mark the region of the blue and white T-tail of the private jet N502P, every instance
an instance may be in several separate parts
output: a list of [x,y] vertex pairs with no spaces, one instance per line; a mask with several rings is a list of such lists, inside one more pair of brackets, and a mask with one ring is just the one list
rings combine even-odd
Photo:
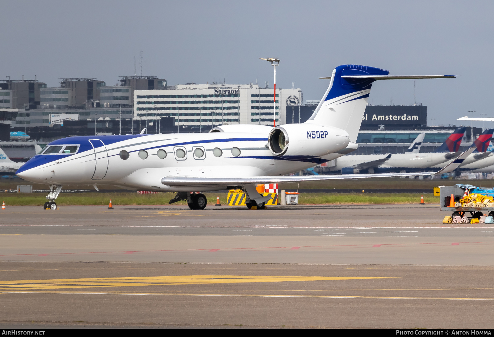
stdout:
[[357,140],[362,117],[367,105],[372,83],[382,79],[451,78],[454,75],[389,75],[380,68],[342,65],[334,68],[328,90],[316,110],[305,123],[319,124],[345,130],[350,142]]

